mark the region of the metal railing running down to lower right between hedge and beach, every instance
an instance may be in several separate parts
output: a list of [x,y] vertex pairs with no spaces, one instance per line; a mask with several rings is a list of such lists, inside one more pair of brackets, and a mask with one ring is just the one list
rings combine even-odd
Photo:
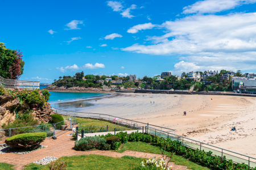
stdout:
[[226,150],[221,147],[209,145],[208,143],[189,139],[180,135],[170,133],[168,131],[152,128],[150,126],[146,127],[146,133],[156,135],[165,139],[170,138],[172,141],[179,141],[182,145],[193,148],[195,150],[198,148],[199,150],[204,150],[205,152],[211,151],[212,155],[221,156],[221,158],[223,158],[223,156],[226,156],[226,159],[232,160],[234,163],[245,163],[250,167],[256,167],[256,158],[253,158],[251,156]]

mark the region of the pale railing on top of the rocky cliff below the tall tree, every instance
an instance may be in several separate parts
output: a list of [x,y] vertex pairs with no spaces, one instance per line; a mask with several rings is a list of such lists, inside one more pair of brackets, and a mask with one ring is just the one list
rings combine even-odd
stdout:
[[0,85],[3,88],[26,88],[28,90],[39,89],[40,82],[5,79],[0,76]]

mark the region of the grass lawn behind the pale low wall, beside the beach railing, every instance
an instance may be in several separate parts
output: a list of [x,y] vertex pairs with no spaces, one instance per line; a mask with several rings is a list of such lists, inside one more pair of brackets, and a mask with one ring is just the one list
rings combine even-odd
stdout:
[[[69,117],[70,116],[63,116],[64,120],[69,118]],[[90,119],[90,118],[88,119],[88,118],[76,117],[76,122],[79,123],[79,129],[81,129],[82,127],[88,127],[88,126],[90,126],[90,129],[100,129],[100,128],[98,128],[99,126],[102,126],[102,128],[106,129],[106,125],[108,125],[109,131],[110,130],[114,131],[114,128],[117,131],[119,131],[119,130],[131,130],[131,129],[125,128],[123,126],[111,124],[108,121],[99,121],[99,120],[94,120],[94,119]]]

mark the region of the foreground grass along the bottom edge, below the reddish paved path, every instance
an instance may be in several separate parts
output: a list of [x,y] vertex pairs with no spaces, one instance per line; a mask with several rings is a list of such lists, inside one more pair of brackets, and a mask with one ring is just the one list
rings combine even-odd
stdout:
[[[80,156],[64,156],[60,159],[68,163],[69,169],[129,169],[133,165],[140,164],[143,159],[131,156],[123,156],[122,158],[112,158],[102,155],[80,155]],[[28,169],[48,170],[48,165],[28,164]]]

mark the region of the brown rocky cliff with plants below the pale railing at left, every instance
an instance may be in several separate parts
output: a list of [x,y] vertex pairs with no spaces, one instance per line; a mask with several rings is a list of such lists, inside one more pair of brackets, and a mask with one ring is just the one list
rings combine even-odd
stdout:
[[[39,120],[39,122],[48,123],[51,121],[51,115],[53,111],[50,107],[49,103],[44,103],[44,105],[37,105],[37,104],[28,104],[26,100],[20,100],[19,91],[14,91],[15,94],[1,94],[0,95],[0,128],[3,124],[10,124],[16,118],[17,109],[19,108],[19,112],[24,112],[26,110],[32,111],[32,115],[35,119]],[[28,92],[29,94],[30,92]],[[42,93],[40,92],[40,95]]]

